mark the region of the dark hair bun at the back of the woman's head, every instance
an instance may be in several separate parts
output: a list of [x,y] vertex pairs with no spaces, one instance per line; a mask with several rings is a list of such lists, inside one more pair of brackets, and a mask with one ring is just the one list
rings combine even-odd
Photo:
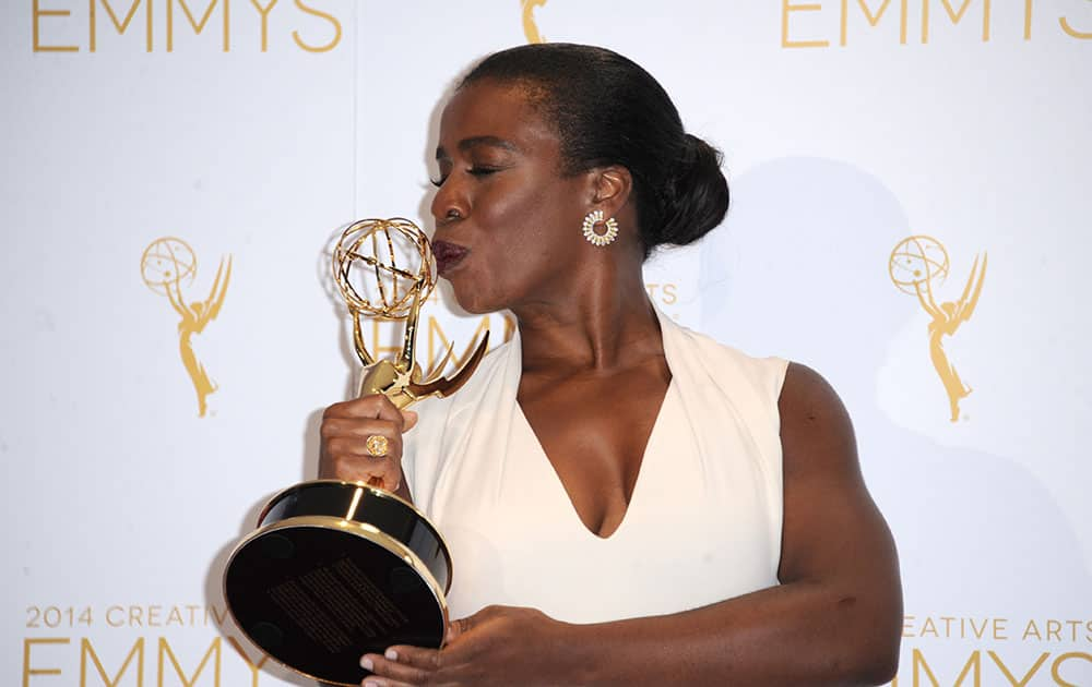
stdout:
[[682,150],[665,180],[663,222],[649,245],[687,245],[716,228],[728,212],[724,156],[701,138],[686,134]]

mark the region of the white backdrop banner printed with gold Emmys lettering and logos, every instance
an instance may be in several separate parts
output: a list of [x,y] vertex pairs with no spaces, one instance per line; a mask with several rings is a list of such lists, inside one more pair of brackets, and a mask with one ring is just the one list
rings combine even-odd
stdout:
[[[429,226],[454,77],[566,40],[725,150],[728,219],[648,291],[843,396],[898,684],[1092,685],[1092,2],[10,0],[0,38],[0,683],[299,682],[219,580],[351,388],[331,241]],[[419,346],[484,327],[441,289]]]

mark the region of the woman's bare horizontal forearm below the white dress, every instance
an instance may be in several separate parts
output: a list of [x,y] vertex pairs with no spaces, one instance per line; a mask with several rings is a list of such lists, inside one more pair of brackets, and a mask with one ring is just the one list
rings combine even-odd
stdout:
[[795,582],[665,616],[567,626],[582,685],[879,685],[898,664],[901,610]]

